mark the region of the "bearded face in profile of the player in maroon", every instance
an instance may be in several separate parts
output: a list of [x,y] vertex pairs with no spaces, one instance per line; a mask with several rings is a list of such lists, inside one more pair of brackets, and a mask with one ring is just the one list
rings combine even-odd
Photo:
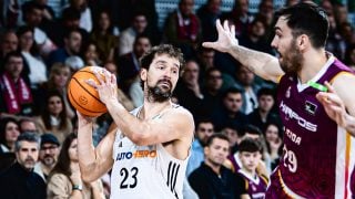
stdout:
[[285,73],[297,73],[302,69],[303,55],[296,44],[285,17],[281,17],[275,25],[275,36],[271,45],[278,52],[278,62]]

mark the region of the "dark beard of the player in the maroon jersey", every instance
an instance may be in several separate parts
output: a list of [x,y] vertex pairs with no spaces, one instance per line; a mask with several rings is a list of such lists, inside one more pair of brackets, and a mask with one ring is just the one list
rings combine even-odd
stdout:
[[302,69],[304,57],[296,46],[296,40],[293,39],[290,48],[284,52],[282,60],[280,60],[281,69],[285,73],[295,74]]

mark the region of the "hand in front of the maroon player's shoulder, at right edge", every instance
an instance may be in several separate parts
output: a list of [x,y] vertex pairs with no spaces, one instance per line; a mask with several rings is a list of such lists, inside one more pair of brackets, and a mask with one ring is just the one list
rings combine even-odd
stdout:
[[325,82],[325,85],[328,88],[328,92],[320,92],[316,97],[324,106],[326,114],[339,126],[345,127],[347,113],[344,102],[328,82]]

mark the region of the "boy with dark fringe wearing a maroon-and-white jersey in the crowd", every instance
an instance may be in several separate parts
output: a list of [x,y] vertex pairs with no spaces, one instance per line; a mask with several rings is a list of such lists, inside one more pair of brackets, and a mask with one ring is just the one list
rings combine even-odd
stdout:
[[245,138],[239,145],[242,168],[236,171],[237,187],[241,198],[263,199],[267,187],[267,177],[258,175],[256,167],[261,160],[262,147],[257,140]]

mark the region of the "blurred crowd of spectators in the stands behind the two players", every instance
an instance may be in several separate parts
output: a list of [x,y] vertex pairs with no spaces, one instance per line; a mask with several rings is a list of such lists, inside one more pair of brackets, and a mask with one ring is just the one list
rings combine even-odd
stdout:
[[[297,2],[288,0],[285,6]],[[67,96],[68,82],[83,66],[105,67],[118,76],[119,98],[132,111],[143,102],[140,57],[153,45],[171,43],[185,57],[172,101],[195,121],[186,198],[258,198],[265,191],[284,136],[274,106],[275,85],[201,43],[215,41],[215,21],[227,20],[241,45],[277,56],[270,45],[273,0],[261,0],[257,13],[248,11],[248,0],[235,0],[227,12],[221,11],[222,0],[207,0],[197,9],[194,0],[180,0],[162,28],[154,0],[69,0],[60,15],[47,0],[1,3],[0,188],[12,185],[9,176],[20,176],[24,182],[13,190],[19,196],[33,193],[26,180],[43,191],[36,193],[40,198],[109,196],[109,174],[91,184],[80,178],[77,116]],[[355,69],[355,31],[347,6],[332,0],[318,3],[331,23],[326,50]],[[109,114],[97,118],[94,145],[111,123]],[[215,140],[223,146],[219,150]],[[41,178],[33,176],[33,168]]]

